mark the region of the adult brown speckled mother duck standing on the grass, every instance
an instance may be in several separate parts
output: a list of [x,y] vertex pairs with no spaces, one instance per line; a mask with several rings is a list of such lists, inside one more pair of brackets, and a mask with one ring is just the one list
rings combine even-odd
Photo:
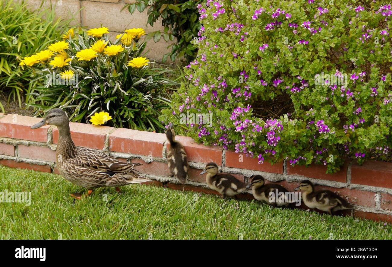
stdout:
[[[55,125],[58,129],[58,171],[69,182],[87,189],[87,196],[98,187],[116,187],[116,191],[120,191],[118,187],[122,185],[151,181],[133,169],[143,164],[120,162],[101,151],[76,147],[69,131],[68,116],[62,109],[52,109],[42,121],[31,126],[31,129],[48,124]],[[73,193],[71,196],[81,199],[82,194]]]

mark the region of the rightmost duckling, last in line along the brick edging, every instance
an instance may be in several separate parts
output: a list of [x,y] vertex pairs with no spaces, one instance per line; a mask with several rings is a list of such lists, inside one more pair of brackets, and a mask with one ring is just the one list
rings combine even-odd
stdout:
[[302,190],[303,203],[310,209],[319,209],[320,211],[332,212],[352,209],[352,205],[344,198],[329,190],[314,191],[314,185],[309,180],[303,180],[294,191]]

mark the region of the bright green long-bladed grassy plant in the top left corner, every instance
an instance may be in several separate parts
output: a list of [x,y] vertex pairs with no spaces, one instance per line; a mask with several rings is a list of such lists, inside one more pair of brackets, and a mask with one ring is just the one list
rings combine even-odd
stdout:
[[43,3],[29,11],[25,1],[0,0],[0,92],[8,94],[8,99],[17,98],[20,107],[24,93],[37,83],[30,82],[30,69],[18,68],[19,60],[59,38],[70,22],[56,20],[54,11],[43,9]]

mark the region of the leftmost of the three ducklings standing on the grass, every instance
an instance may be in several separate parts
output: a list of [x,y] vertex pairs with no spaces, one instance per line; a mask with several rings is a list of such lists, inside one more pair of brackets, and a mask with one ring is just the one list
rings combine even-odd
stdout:
[[236,196],[244,192],[245,183],[239,181],[230,174],[218,174],[218,165],[214,162],[208,163],[200,174],[207,173],[207,185],[212,190],[218,191],[222,198]]

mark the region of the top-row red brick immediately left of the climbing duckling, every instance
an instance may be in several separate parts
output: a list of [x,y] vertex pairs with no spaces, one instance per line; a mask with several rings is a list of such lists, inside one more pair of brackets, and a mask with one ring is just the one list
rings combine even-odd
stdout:
[[119,128],[109,136],[111,151],[162,158],[165,134]]

